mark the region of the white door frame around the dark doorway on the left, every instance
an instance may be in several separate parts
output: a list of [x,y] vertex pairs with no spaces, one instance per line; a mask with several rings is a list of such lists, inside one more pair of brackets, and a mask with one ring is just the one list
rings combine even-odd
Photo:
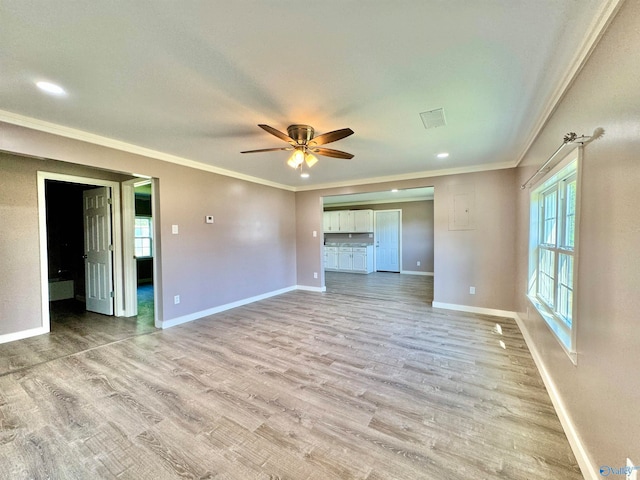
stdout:
[[122,229],[121,229],[121,207],[120,207],[120,183],[111,180],[101,180],[98,178],[80,177],[77,175],[67,175],[53,172],[37,172],[38,179],[38,230],[40,235],[40,289],[42,298],[42,333],[51,331],[51,318],[49,316],[49,251],[47,248],[47,198],[45,184],[47,180],[80,183],[93,185],[96,187],[111,188],[111,235],[113,243],[113,306],[114,316],[124,315],[123,298],[124,282],[122,276]]

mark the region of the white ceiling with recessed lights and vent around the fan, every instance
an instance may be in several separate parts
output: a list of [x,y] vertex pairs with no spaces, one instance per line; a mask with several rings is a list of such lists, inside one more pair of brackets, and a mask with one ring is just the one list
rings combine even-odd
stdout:
[[[504,168],[618,3],[2,0],[0,120],[294,190]],[[426,130],[420,112],[441,107],[447,125]],[[287,152],[240,154],[286,146],[259,123],[350,127],[326,146],[355,158],[303,180]]]

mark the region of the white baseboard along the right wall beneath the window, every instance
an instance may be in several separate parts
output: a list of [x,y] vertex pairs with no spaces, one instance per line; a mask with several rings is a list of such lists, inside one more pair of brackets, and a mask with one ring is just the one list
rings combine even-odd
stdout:
[[544,382],[545,387],[547,387],[547,392],[549,392],[549,397],[551,397],[551,403],[553,403],[553,407],[560,419],[560,423],[562,424],[562,428],[564,430],[565,435],[567,436],[567,440],[569,440],[569,445],[571,446],[571,450],[573,450],[573,454],[576,457],[578,465],[580,466],[580,470],[582,470],[582,475],[586,479],[597,480],[602,478],[599,475],[597,469],[593,467],[593,462],[589,458],[589,454],[576,431],[575,425],[571,420],[571,417],[567,411],[567,407],[562,400],[562,397],[558,393],[558,389],[556,388],[556,384],[549,375],[547,367],[544,363],[544,360],[540,356],[538,349],[536,348],[531,335],[529,334],[529,330],[527,329],[526,324],[522,321],[520,316],[516,313],[513,317],[518,325],[518,328],[522,332],[522,336],[524,337],[524,341],[531,352],[531,356],[533,357],[533,361],[538,367],[538,371],[540,372],[540,376],[542,377],[542,381]]

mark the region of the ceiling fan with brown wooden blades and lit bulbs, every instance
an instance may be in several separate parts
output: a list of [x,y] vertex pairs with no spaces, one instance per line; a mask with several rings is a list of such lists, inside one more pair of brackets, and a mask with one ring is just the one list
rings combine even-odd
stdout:
[[323,155],[325,157],[344,158],[346,160],[353,158],[353,155],[350,153],[320,147],[320,145],[336,142],[348,137],[349,135],[353,135],[353,130],[350,128],[342,128],[340,130],[334,130],[314,137],[315,131],[310,125],[289,125],[287,127],[288,135],[280,130],[270,127],[269,125],[260,124],[258,126],[266,132],[269,132],[271,135],[278,137],[280,140],[284,140],[289,144],[289,146],[281,148],[246,150],[240,153],[275,152],[277,150],[293,151],[293,154],[287,161],[287,165],[291,168],[301,167],[303,162],[307,164],[307,167],[313,167],[318,162],[318,159],[314,154]]

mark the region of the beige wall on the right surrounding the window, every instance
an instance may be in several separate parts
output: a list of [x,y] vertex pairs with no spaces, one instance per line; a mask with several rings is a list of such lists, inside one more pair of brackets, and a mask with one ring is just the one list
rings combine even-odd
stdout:
[[[640,2],[627,1],[525,159],[539,165],[569,131],[586,146],[579,231],[574,366],[525,297],[529,191],[518,203],[517,308],[566,414],[601,465],[640,464]],[[519,169],[517,182],[530,175]],[[527,309],[531,312],[527,316]]]

